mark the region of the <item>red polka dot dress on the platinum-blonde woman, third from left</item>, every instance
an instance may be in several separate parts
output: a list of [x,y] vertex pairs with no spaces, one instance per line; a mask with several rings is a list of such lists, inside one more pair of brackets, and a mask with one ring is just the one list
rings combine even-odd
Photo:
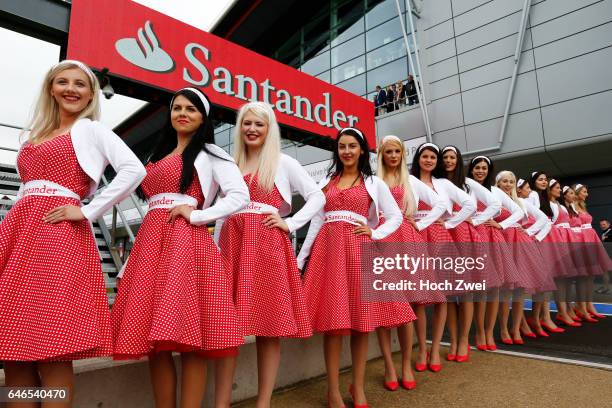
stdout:
[[[249,186],[251,201],[280,208],[283,197],[276,187],[266,192]],[[245,336],[310,337],[300,271],[289,235],[262,224],[267,215],[239,213],[223,223],[219,246],[232,282],[238,322]]]

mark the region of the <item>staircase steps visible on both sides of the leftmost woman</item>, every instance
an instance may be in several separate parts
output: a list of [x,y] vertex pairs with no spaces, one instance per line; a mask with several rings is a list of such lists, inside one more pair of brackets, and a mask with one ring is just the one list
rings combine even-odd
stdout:
[[[8,211],[15,204],[17,191],[21,180],[17,175],[17,170],[14,166],[0,164],[0,221],[4,219]],[[115,263],[111,250],[109,248],[110,235],[105,238],[104,231],[98,222],[92,223],[96,245],[100,253],[100,262],[102,264],[102,272],[104,273],[104,281],[106,283],[106,292],[108,295],[108,303],[113,304],[115,301],[115,292],[117,283],[115,277],[118,273],[118,265]],[[109,239],[107,241],[107,239]]]

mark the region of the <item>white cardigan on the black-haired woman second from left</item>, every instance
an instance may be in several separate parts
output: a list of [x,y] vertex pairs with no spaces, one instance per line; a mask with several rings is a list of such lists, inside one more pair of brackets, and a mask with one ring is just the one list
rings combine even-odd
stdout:
[[[206,148],[218,157],[201,151],[193,163],[204,194],[202,207],[192,211],[189,217],[193,225],[205,225],[227,217],[249,203],[249,189],[234,159],[217,145],[207,143]],[[219,189],[221,195],[211,206]]]

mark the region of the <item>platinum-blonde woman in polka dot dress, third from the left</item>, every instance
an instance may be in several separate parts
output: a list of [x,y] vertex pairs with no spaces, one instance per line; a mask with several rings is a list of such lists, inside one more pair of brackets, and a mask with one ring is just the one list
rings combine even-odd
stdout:
[[[300,272],[289,234],[305,225],[325,197],[299,162],[280,151],[280,129],[268,104],[239,113],[235,159],[251,202],[218,222],[215,234],[227,263],[241,333],[257,336],[258,406],[269,406],[280,362],[280,337],[312,335]],[[292,217],[292,192],[305,200]]]

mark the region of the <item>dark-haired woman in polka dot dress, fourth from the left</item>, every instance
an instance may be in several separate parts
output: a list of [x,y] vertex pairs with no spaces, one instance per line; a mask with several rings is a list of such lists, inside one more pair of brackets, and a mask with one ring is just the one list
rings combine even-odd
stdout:
[[[368,152],[360,130],[340,130],[328,177],[319,183],[327,202],[312,219],[298,256],[300,269],[310,257],[304,288],[313,330],[325,335],[330,407],[344,406],[339,385],[342,336],[351,335],[354,406],[367,407],[363,386],[368,333],[406,322],[400,314],[377,313],[375,303],[362,299],[361,244],[387,237],[402,223],[389,187],[372,175]],[[380,211],[386,221],[382,225]]]

